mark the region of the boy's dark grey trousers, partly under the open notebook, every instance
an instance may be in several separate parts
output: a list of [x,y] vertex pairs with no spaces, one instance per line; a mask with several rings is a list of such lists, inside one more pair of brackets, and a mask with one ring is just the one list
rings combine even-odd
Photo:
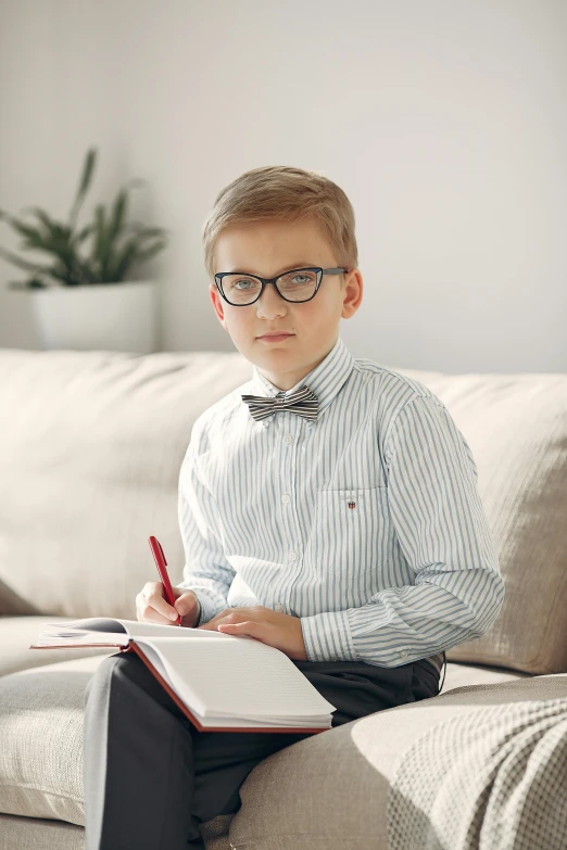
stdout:
[[[423,659],[293,663],[337,706],[332,726],[439,693]],[[199,824],[237,812],[252,769],[310,736],[199,732],[135,652],[100,662],[84,708],[85,850],[204,850]]]

